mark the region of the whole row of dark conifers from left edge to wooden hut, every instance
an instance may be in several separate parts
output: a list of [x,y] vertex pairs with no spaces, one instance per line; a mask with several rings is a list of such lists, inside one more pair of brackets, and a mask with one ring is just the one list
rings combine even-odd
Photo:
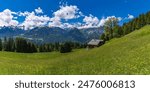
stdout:
[[49,43],[37,45],[24,38],[4,38],[0,39],[0,51],[19,52],[19,53],[36,53],[36,52],[52,52],[60,53],[71,52],[72,49],[85,48],[86,44],[78,42]]

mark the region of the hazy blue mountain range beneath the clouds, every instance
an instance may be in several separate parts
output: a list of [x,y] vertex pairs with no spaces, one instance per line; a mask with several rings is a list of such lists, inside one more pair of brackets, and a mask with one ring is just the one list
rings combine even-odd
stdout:
[[59,27],[36,27],[31,30],[23,30],[17,27],[1,27],[0,37],[23,37],[36,43],[54,43],[75,41],[85,43],[91,39],[99,39],[103,28],[68,28]]

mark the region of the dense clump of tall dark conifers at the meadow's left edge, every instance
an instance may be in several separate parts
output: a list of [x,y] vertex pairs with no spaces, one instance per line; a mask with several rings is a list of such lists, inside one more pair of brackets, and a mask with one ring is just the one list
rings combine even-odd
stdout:
[[[2,47],[2,48],[1,48]],[[37,52],[37,47],[31,42],[23,38],[4,38],[4,42],[0,44],[0,48],[4,51],[20,52],[20,53],[34,53]]]

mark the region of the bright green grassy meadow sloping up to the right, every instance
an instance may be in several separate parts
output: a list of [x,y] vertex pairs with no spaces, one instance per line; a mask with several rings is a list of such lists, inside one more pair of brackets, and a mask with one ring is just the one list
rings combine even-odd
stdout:
[[0,74],[150,74],[150,26],[89,51],[0,52]]

